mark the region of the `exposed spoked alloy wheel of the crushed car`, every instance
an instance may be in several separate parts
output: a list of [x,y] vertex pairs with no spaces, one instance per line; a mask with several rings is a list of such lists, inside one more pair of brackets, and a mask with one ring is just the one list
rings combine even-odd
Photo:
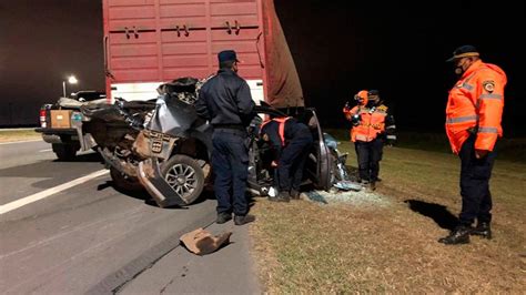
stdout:
[[176,154],[161,166],[164,180],[178,192],[188,204],[193,203],[203,192],[203,169],[194,159]]

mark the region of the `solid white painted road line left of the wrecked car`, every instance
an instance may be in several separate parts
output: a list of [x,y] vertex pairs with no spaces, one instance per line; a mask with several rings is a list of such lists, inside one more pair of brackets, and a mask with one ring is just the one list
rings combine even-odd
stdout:
[[42,200],[44,197],[48,197],[50,195],[53,195],[55,193],[60,193],[62,191],[65,191],[70,187],[73,187],[75,185],[79,185],[79,184],[82,184],[84,182],[88,182],[92,179],[95,179],[95,177],[99,177],[101,175],[104,175],[104,174],[108,174],[109,171],[108,170],[99,170],[99,171],[95,171],[91,174],[88,174],[85,176],[82,176],[80,179],[77,179],[77,180],[72,180],[70,182],[67,182],[67,183],[63,183],[61,185],[58,185],[58,186],[54,186],[54,187],[51,187],[51,189],[48,189],[45,191],[42,191],[40,193],[36,193],[36,194],[32,194],[32,195],[29,195],[29,196],[26,196],[23,199],[19,199],[17,201],[13,201],[11,203],[8,203],[8,204],[4,204],[4,205],[1,205],[0,206],[0,215],[1,214],[4,214],[4,213],[8,213],[10,211],[13,211],[13,210],[17,210],[21,206],[26,206],[28,204],[31,204],[33,202],[37,202],[39,200]]

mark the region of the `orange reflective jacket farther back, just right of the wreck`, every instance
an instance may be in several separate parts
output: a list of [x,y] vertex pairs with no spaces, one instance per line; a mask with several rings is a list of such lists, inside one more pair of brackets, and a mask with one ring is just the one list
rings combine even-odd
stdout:
[[387,106],[384,104],[377,108],[366,108],[356,105],[348,110],[343,109],[343,113],[347,120],[355,114],[360,114],[360,124],[351,129],[351,140],[370,142],[385,131],[385,116],[387,115]]

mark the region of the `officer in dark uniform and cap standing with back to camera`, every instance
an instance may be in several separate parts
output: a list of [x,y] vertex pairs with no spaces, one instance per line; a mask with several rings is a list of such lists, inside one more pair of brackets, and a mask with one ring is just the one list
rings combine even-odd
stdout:
[[216,223],[227,222],[233,212],[234,223],[242,225],[254,218],[247,215],[249,150],[244,142],[255,103],[249,84],[237,75],[235,51],[221,51],[218,59],[220,70],[201,88],[195,110],[214,128],[212,169],[218,199]]

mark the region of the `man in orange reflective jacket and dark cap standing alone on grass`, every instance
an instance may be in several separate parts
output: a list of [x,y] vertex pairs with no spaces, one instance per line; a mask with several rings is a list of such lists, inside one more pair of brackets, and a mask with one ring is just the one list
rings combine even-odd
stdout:
[[[461,157],[462,211],[459,224],[444,244],[469,243],[469,234],[492,238],[492,194],[489,177],[495,160],[495,144],[503,135],[500,120],[507,79],[495,64],[481,60],[473,45],[453,52],[458,82],[449,91],[446,108],[446,133],[453,152]],[[476,227],[472,227],[477,220]]]

